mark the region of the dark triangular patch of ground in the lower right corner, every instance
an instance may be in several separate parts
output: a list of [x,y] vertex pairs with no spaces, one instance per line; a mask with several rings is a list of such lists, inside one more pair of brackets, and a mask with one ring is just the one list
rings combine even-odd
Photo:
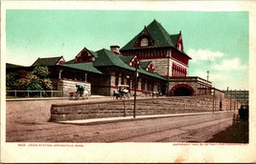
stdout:
[[221,133],[217,133],[206,142],[248,143],[248,121],[241,121]]

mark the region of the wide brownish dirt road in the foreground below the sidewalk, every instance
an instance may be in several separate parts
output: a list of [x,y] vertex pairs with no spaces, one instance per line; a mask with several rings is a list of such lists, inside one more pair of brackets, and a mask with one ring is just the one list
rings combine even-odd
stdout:
[[[9,142],[204,142],[232,124],[233,113],[70,125],[51,122],[9,127]],[[10,126],[10,125],[9,125]]]

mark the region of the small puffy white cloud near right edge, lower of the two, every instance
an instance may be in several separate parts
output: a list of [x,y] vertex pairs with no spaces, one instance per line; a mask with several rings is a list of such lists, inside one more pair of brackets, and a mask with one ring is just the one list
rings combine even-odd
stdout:
[[223,59],[221,63],[214,64],[212,69],[216,71],[245,71],[247,70],[247,66],[243,65],[241,59],[236,57]]

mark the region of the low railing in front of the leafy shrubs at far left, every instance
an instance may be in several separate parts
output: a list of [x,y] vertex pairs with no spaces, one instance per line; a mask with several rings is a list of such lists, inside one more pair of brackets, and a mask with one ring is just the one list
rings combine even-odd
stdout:
[[7,91],[8,98],[42,98],[42,97],[63,97],[62,91]]

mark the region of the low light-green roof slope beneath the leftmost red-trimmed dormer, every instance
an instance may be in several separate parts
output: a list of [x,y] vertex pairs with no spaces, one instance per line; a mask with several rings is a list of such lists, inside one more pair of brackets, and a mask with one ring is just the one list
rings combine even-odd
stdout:
[[75,63],[75,64],[64,64],[64,65],[61,65],[61,66],[62,67],[66,67],[66,68],[71,68],[71,69],[77,69],[77,70],[81,70],[81,71],[85,71],[85,72],[94,72],[94,73],[103,74],[103,72],[100,72],[98,69],[93,67],[93,63],[92,62],[88,62],[88,63]]

